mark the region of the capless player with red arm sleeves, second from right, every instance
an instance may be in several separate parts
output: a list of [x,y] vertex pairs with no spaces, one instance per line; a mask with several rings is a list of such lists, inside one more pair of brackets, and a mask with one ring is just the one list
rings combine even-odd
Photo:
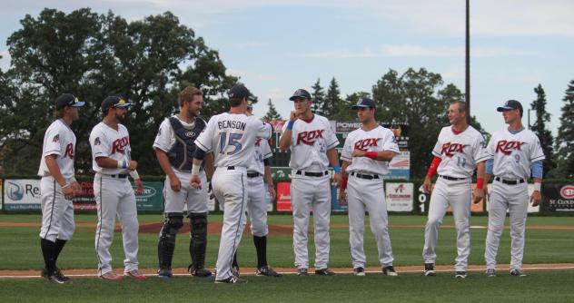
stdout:
[[[427,193],[432,191],[422,258],[425,276],[434,276],[439,227],[450,206],[457,230],[455,278],[465,279],[470,255],[470,181],[477,169],[477,189],[472,193],[472,200],[478,203],[484,197],[484,162],[489,154],[482,134],[467,123],[466,103],[450,103],[448,116],[451,125],[440,131],[432,150],[434,159],[422,185]],[[432,190],[431,178],[437,171],[439,179]]]

